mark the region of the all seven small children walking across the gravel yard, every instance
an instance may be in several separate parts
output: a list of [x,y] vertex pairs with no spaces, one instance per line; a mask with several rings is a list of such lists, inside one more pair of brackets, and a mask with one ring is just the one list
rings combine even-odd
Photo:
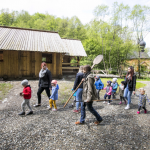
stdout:
[[[99,92],[101,90],[106,90],[106,93],[104,95],[104,99],[106,99],[107,97],[108,97],[108,99],[111,99],[111,96],[112,96],[112,99],[115,99],[116,98],[116,91],[117,91],[117,88],[119,86],[119,96],[120,96],[119,105],[122,104],[122,100],[124,101],[124,104],[127,103],[125,98],[124,98],[124,86],[125,86],[124,81],[122,81],[121,84],[118,85],[117,78],[113,78],[112,82],[107,81],[107,86],[104,88],[104,84],[102,83],[100,77],[96,76],[95,79],[96,79],[95,86],[96,86],[96,90],[97,90],[98,99],[100,99]],[[24,101],[21,105],[22,112],[19,113],[19,115],[25,115],[25,106],[26,105],[30,109],[30,111],[27,113],[27,115],[31,115],[31,114],[33,114],[32,108],[30,106],[31,87],[30,87],[30,85],[28,85],[28,80],[26,80],[26,79],[23,80],[21,82],[21,84],[24,87],[24,89],[23,89],[23,92],[20,93],[20,96],[24,97]],[[50,96],[48,109],[53,110],[53,111],[57,111],[56,100],[58,100],[59,86],[58,86],[56,80],[52,80],[51,85],[52,85],[52,95]],[[144,113],[147,113],[145,105],[146,105],[146,100],[149,101],[149,99],[148,99],[147,95],[145,94],[145,90],[143,88],[141,88],[139,90],[139,92],[140,92],[140,94],[136,94],[136,96],[139,97],[139,102],[138,102],[139,107],[138,107],[137,114],[140,114],[141,108],[144,109]],[[109,100],[108,104],[110,104],[111,101],[112,100]],[[104,101],[103,103],[106,103],[106,101]],[[52,109],[52,105],[54,106],[54,109]]]

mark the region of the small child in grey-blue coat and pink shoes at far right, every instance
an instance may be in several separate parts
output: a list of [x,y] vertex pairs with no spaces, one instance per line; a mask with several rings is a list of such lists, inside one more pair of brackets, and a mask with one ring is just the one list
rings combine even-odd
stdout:
[[147,110],[145,108],[145,105],[146,105],[146,100],[149,101],[149,99],[147,95],[145,94],[145,90],[143,88],[141,88],[139,91],[140,91],[140,94],[139,95],[136,94],[136,96],[139,97],[139,102],[138,102],[139,108],[138,108],[137,114],[140,114],[141,107],[144,109],[144,113],[146,114]]

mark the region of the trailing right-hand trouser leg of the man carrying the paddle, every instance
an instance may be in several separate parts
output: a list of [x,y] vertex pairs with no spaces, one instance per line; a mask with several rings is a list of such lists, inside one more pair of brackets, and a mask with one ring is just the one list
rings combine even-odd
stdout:
[[88,110],[96,117],[97,121],[102,121],[102,117],[98,114],[98,112],[93,108],[93,102],[87,103]]

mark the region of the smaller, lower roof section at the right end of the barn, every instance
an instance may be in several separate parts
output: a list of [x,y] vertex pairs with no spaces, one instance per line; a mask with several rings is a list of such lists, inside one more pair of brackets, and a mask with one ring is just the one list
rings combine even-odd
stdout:
[[62,39],[69,51],[69,56],[87,56],[80,40]]

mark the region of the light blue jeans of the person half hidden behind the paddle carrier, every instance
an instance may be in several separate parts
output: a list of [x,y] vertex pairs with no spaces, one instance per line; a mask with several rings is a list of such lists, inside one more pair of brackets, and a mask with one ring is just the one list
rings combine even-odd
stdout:
[[83,88],[78,88],[77,92],[76,92],[76,110],[79,110],[79,105],[83,105],[83,102],[82,102],[82,91],[83,91]]

